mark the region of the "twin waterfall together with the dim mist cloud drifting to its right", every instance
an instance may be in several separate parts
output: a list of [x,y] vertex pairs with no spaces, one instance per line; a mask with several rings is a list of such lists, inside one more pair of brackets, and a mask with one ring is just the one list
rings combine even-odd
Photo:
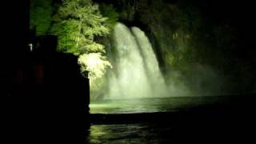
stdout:
[[[222,95],[218,70],[200,63],[163,73],[155,48],[140,28],[118,22],[108,51],[111,69],[106,73],[103,99],[171,98]],[[93,93],[93,92],[92,92]],[[94,95],[94,94],[92,94]],[[94,99],[94,98],[93,98]]]

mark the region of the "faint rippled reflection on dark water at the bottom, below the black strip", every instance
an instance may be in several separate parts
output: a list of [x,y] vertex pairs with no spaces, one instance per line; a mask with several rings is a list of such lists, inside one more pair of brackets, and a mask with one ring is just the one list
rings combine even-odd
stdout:
[[88,143],[164,143],[170,128],[154,124],[92,125]]

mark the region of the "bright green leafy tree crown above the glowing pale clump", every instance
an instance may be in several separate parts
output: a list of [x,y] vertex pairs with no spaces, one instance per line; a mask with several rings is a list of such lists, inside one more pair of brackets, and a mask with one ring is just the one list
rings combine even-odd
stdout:
[[106,36],[109,28],[90,0],[65,0],[53,16],[51,34],[58,35],[58,50],[73,54],[105,53],[104,46],[94,41]]

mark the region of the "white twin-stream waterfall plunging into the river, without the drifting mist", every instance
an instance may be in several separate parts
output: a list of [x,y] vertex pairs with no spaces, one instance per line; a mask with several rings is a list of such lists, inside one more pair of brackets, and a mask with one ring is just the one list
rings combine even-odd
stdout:
[[107,98],[153,98],[163,96],[166,86],[158,60],[146,34],[114,26],[114,46],[110,51],[113,69],[109,71]]

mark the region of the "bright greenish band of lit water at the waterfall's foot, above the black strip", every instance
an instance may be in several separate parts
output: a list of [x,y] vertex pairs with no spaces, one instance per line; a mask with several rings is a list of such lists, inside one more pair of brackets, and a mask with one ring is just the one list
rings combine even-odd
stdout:
[[222,97],[108,99],[90,103],[90,114],[166,112],[221,102]]

